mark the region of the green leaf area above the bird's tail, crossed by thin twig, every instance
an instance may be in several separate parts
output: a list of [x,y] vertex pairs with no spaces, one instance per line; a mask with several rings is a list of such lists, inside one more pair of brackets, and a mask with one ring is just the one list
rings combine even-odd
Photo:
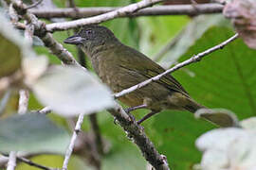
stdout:
[[[217,36],[216,36],[217,35]],[[213,45],[229,39],[234,32],[228,27],[211,27],[201,39],[180,58],[191,58]],[[255,115],[256,51],[251,50],[240,39],[229,43],[195,64],[186,67],[194,76],[179,70],[174,76],[197,102],[211,108],[225,108],[238,118]]]

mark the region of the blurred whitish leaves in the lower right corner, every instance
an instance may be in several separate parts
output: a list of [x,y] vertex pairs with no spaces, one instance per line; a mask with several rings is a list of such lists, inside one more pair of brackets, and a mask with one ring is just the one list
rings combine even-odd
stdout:
[[203,158],[195,167],[202,170],[255,169],[255,123],[254,116],[241,121],[241,128],[217,128],[201,135],[195,144],[203,152]]

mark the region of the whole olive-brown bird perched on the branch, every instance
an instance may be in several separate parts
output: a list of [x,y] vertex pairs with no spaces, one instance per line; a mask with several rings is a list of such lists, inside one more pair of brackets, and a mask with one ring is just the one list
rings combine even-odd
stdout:
[[[92,60],[98,76],[114,93],[132,87],[165,71],[152,59],[119,42],[113,32],[104,26],[84,26],[65,43],[76,44]],[[137,123],[140,124],[160,110],[189,110],[192,113],[205,108],[190,97],[181,84],[171,75],[128,93],[119,98],[130,110],[146,108],[152,110]],[[219,120],[205,117],[220,124]],[[221,125],[222,126],[222,125]],[[227,126],[227,125],[226,125]]]

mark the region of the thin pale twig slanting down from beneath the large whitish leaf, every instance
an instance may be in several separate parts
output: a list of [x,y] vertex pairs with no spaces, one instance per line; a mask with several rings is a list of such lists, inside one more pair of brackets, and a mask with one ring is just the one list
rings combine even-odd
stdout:
[[66,169],[67,169],[67,164],[68,164],[68,161],[69,161],[69,159],[70,159],[70,157],[71,157],[71,155],[72,155],[72,152],[73,152],[73,149],[74,149],[74,146],[75,146],[76,139],[77,139],[77,137],[78,137],[79,132],[81,131],[81,126],[82,126],[83,117],[84,117],[83,114],[80,114],[80,115],[79,115],[79,118],[78,118],[76,127],[75,127],[74,132],[73,132],[73,135],[72,135],[72,138],[71,138],[71,140],[70,140],[70,143],[69,143],[69,145],[68,145],[68,148],[66,149],[65,156],[64,156],[63,170],[66,170]]

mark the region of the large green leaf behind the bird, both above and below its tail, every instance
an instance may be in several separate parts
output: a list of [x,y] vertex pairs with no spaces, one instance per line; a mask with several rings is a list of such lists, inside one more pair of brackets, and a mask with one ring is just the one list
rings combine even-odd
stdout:
[[[211,27],[180,61],[227,40],[233,34],[228,27]],[[199,103],[209,108],[232,110],[241,119],[256,112],[255,56],[256,51],[236,40],[187,66],[186,71],[179,70],[173,75]],[[145,127],[159,151],[167,156],[171,167],[187,170],[200,161],[201,154],[194,146],[196,138],[213,126],[195,120],[192,113],[165,110]]]

